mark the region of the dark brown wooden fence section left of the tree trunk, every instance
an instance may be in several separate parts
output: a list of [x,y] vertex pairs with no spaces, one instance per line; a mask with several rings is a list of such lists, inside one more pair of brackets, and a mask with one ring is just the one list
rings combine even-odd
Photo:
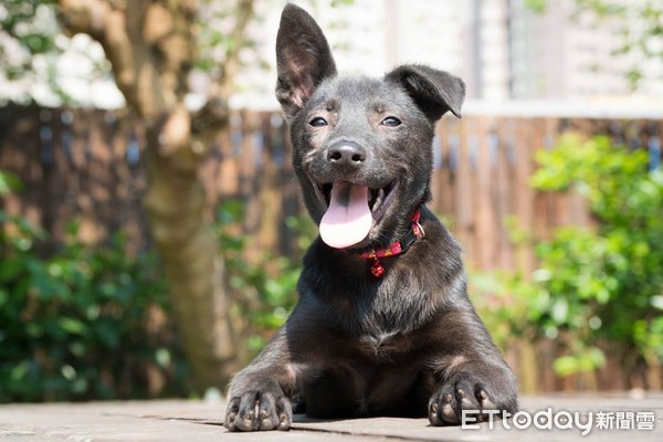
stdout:
[[52,233],[69,222],[99,242],[125,230],[147,238],[140,206],[146,188],[140,127],[122,113],[9,106],[0,109],[0,170],[15,172],[21,192],[4,209]]

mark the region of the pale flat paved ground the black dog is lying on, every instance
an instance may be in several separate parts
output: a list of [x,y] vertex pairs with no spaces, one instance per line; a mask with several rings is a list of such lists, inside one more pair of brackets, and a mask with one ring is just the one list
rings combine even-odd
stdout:
[[[17,442],[377,442],[377,441],[663,441],[663,392],[524,397],[526,411],[481,429],[433,428],[425,419],[313,421],[295,418],[290,432],[229,433],[223,403],[200,401],[0,406],[0,441]],[[575,421],[578,413],[579,425]],[[571,422],[566,420],[571,417]],[[527,420],[535,419],[537,429]],[[518,423],[518,421],[520,423]],[[522,427],[518,429],[516,427]],[[552,429],[548,429],[551,427]],[[559,429],[558,427],[569,427]],[[585,429],[585,430],[583,430]],[[586,431],[588,434],[582,435]]]

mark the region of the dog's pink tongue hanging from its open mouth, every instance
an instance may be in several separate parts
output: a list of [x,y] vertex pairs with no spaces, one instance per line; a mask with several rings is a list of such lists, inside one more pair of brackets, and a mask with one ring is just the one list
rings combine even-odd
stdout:
[[332,188],[329,208],[320,221],[320,238],[335,249],[361,242],[372,227],[368,207],[368,188],[336,181]]

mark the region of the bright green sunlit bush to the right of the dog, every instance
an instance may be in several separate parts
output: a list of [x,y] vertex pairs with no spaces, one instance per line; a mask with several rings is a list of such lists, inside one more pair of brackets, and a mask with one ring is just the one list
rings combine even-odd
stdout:
[[[592,371],[609,348],[627,372],[663,361],[663,171],[607,137],[567,135],[540,150],[532,183],[583,194],[597,227],[564,227],[536,246],[532,275],[477,275],[477,307],[501,345],[554,339],[560,376]],[[514,239],[528,235],[514,229]],[[488,294],[495,294],[490,296]]]

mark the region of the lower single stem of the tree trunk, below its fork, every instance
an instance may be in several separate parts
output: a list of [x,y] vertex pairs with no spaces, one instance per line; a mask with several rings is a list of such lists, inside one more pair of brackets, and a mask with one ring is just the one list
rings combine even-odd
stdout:
[[[145,207],[166,270],[173,313],[200,389],[224,387],[236,366],[223,291],[223,263],[196,170],[159,155],[149,138]],[[156,138],[156,139],[155,139]]]

